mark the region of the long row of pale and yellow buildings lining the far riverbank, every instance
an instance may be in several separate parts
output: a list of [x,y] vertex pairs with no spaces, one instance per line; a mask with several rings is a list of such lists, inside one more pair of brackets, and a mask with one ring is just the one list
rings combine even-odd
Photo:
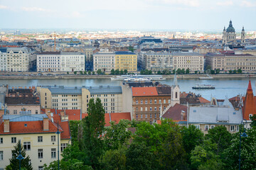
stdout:
[[[0,48],[0,72],[79,72],[85,71],[87,57],[84,52],[39,52],[28,47]],[[206,66],[211,69],[241,69],[244,72],[256,71],[256,56],[235,52],[207,53],[196,52],[171,53],[165,48],[139,50],[139,52],[100,51],[92,55],[93,71],[110,73],[112,69],[137,72],[148,69],[152,72],[173,69],[189,69],[191,72],[203,72]]]

